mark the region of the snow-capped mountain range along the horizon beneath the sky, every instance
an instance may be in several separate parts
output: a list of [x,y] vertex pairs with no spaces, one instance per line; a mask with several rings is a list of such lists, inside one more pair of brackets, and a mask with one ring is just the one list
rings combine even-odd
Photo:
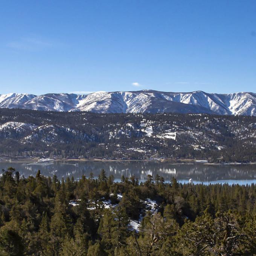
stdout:
[[142,91],[98,91],[91,94],[0,94],[0,108],[95,113],[209,113],[256,116],[256,94]]

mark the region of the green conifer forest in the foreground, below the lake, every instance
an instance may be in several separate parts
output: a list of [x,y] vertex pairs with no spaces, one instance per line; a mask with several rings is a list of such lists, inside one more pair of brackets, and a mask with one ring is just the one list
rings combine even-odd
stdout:
[[[1,256],[256,255],[256,187],[0,177]],[[151,202],[152,207],[145,202]],[[136,223],[139,224],[136,226]]]

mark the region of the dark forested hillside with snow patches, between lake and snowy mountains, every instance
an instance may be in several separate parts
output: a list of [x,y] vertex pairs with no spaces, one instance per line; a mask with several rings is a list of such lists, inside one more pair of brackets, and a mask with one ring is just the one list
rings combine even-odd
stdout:
[[256,161],[256,117],[0,109],[0,155]]

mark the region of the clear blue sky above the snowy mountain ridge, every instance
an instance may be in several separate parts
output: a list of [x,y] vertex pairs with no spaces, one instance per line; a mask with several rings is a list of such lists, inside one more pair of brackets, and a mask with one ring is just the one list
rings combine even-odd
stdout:
[[3,0],[0,88],[256,92],[256,1]]

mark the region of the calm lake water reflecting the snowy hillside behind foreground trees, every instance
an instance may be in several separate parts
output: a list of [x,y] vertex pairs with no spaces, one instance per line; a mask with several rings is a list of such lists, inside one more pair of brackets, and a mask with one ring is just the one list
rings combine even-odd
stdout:
[[[78,166],[75,166],[75,164]],[[40,169],[41,174],[58,178],[72,177],[80,178],[84,173],[86,177],[93,172],[97,177],[102,169],[107,175],[113,174],[116,181],[120,177],[134,175],[140,181],[146,181],[147,175],[156,174],[163,176],[166,182],[175,177],[179,182],[188,182],[190,178],[194,183],[229,183],[229,184],[251,184],[256,183],[256,165],[237,166],[209,166],[200,163],[194,164],[170,164],[158,162],[53,162],[46,165],[0,162],[0,168],[15,168],[25,177],[35,175]]]

